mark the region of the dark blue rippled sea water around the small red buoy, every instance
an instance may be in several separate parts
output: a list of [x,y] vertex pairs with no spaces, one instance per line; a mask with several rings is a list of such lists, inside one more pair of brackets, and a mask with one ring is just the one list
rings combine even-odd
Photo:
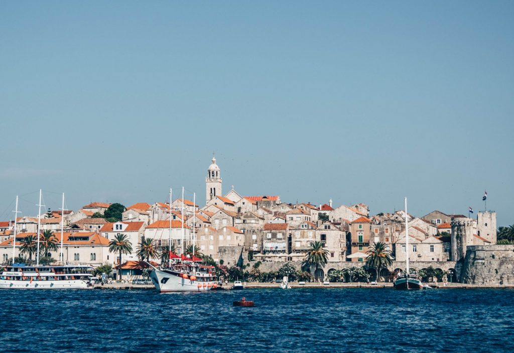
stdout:
[[[255,307],[232,306],[234,300]],[[2,352],[505,352],[514,290],[1,290]]]

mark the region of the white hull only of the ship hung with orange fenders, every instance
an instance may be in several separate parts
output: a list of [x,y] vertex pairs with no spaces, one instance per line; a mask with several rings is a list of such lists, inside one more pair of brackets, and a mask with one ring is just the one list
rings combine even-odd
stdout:
[[[180,277],[168,271],[154,270],[150,272],[150,278],[155,288],[161,292],[204,292],[212,290],[216,282],[214,279],[210,282],[191,281],[189,278]],[[199,285],[199,286],[198,286]],[[217,284],[216,284],[217,287]]]

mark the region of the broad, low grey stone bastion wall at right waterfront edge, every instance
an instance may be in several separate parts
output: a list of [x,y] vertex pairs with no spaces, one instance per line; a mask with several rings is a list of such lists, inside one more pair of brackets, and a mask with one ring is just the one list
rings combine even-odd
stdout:
[[468,246],[462,283],[514,285],[514,245]]

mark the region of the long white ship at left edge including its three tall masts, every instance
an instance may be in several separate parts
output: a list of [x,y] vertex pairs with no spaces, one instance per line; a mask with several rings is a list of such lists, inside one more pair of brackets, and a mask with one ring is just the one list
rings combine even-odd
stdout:
[[16,196],[16,211],[14,211],[14,238],[12,242],[13,263],[4,268],[0,276],[0,289],[88,289],[93,288],[93,267],[64,265],[63,258],[63,228],[64,228],[64,194],[61,213],[61,252],[59,266],[39,265],[39,242],[41,236],[41,195],[39,191],[39,215],[38,215],[38,249],[36,252],[36,264],[25,265],[14,263],[16,250],[16,218],[18,211],[18,197]]

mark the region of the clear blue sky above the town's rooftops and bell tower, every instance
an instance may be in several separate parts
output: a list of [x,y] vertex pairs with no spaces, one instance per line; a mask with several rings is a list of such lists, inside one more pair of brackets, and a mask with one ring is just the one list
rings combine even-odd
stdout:
[[[15,2],[0,7],[0,220],[45,205],[497,211],[514,224],[514,2]],[[510,181],[509,181],[510,180]],[[174,191],[174,192],[175,192]],[[26,195],[28,194],[28,195]],[[178,194],[177,194],[178,195]]]

